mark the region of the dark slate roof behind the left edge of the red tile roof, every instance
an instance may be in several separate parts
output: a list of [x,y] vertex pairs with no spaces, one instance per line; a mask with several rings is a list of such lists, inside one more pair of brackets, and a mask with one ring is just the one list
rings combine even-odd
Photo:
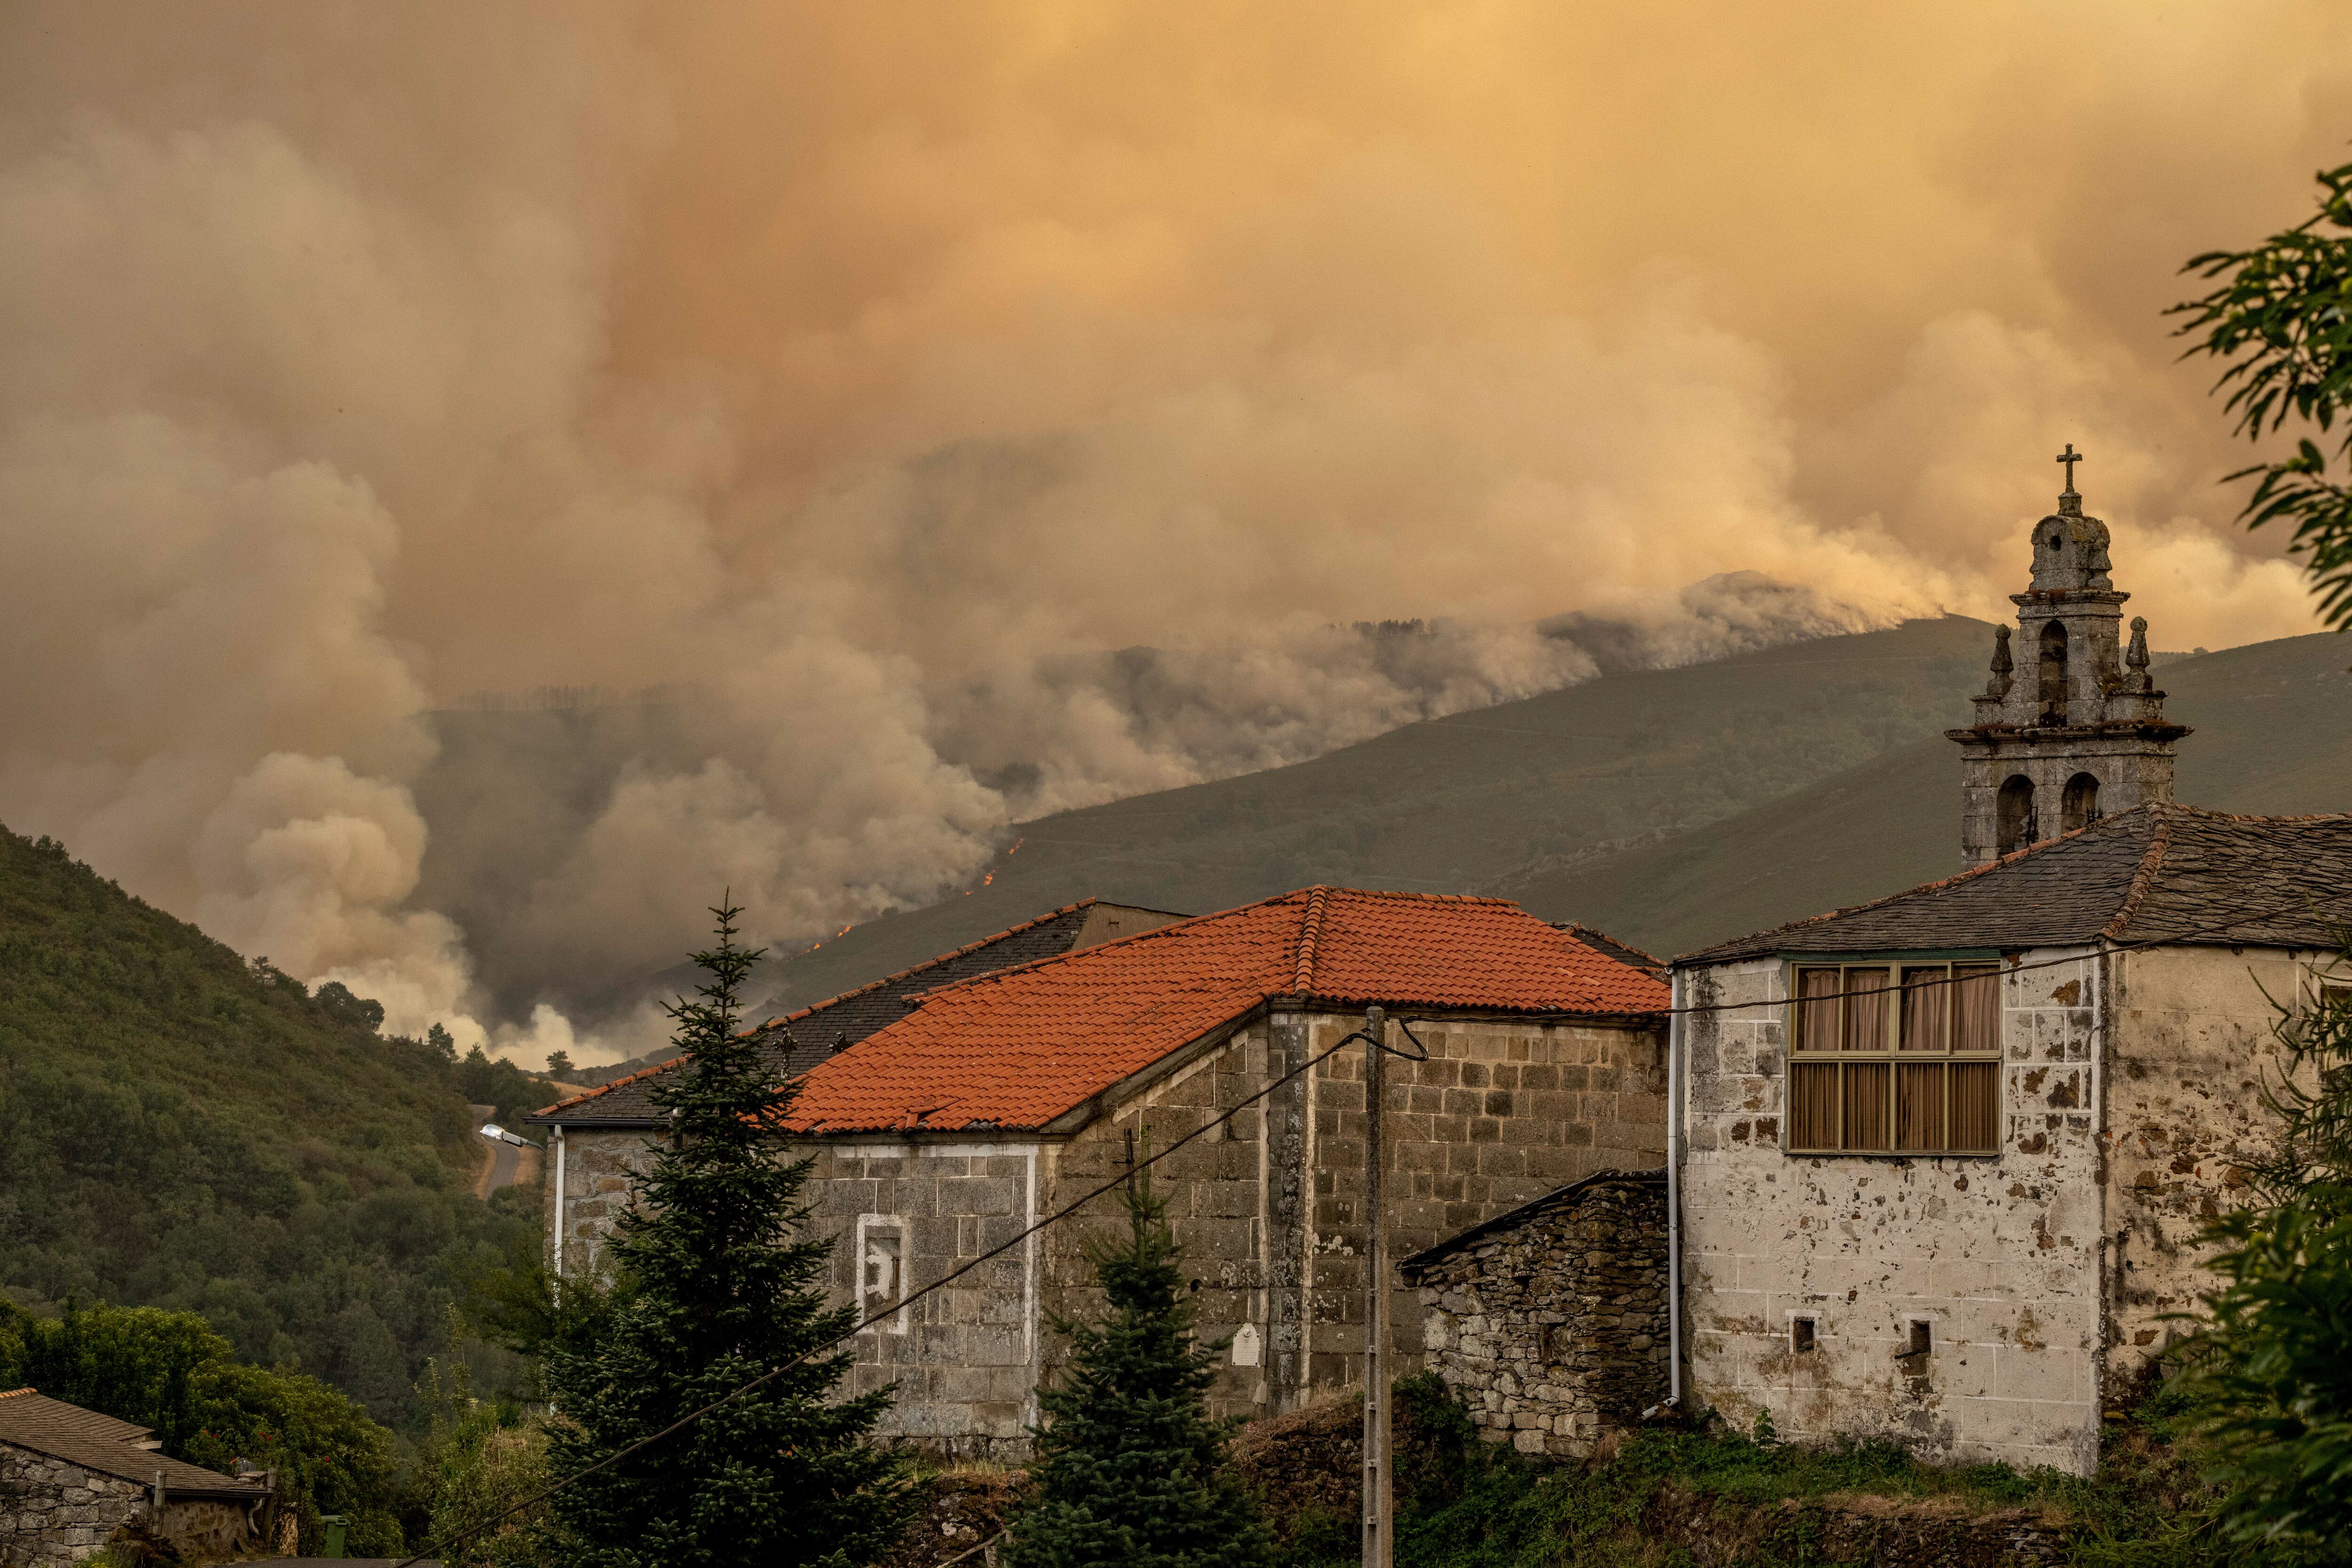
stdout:
[[[769,1018],[760,1030],[769,1032],[767,1056],[781,1077],[800,1077],[821,1060],[854,1046],[868,1034],[884,1030],[915,1006],[915,997],[922,992],[938,990],[941,985],[953,985],[955,980],[969,980],[974,976],[993,973],[997,969],[1011,969],[1016,964],[1035,964],[1037,959],[1049,959],[1070,952],[1073,943],[1087,929],[1087,919],[1096,910],[1129,910],[1134,905],[1103,905],[1096,898],[1080,898],[1077,903],[1040,914],[1037,919],[1021,922],[1009,931],[997,931],[995,936],[983,936],[976,943],[967,943],[955,952],[943,952],[936,959],[924,959],[913,969],[901,969],[894,976],[873,980],[840,997],[816,1001],[800,1009],[797,1013],[786,1013],[783,1018]],[[1167,914],[1164,910],[1145,910],[1148,914]],[[642,1072],[633,1072],[626,1079],[614,1079],[600,1088],[590,1088],[583,1095],[569,1100],[557,1100],[532,1117],[529,1124],[562,1124],[562,1126],[656,1126],[666,1114],[654,1105],[654,1079],[677,1065],[680,1058],[670,1058]]]

